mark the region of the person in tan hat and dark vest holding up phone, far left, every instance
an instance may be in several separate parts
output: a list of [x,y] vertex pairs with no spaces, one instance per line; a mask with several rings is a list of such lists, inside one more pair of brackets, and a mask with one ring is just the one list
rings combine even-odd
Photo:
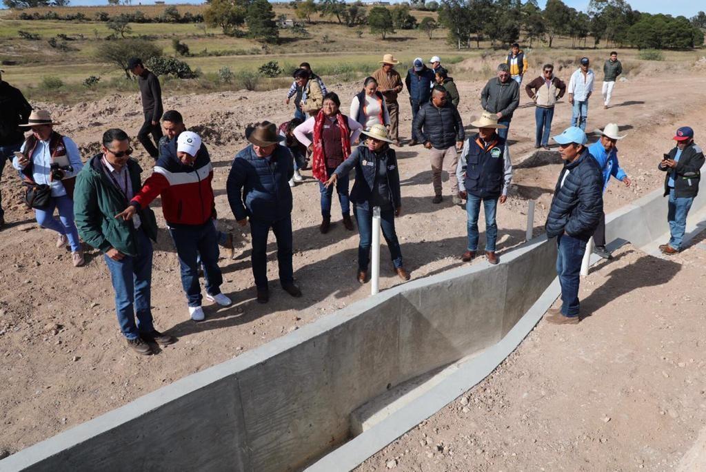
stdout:
[[[74,267],[83,265],[83,248],[73,222],[73,187],[76,175],[83,168],[76,143],[54,131],[54,121],[47,110],[32,111],[21,128],[31,128],[32,134],[16,153],[12,165],[20,171],[28,186],[49,186],[51,198],[48,205],[32,205],[40,226],[59,233],[56,247],[71,246]],[[59,210],[59,220],[54,219],[54,209]]]

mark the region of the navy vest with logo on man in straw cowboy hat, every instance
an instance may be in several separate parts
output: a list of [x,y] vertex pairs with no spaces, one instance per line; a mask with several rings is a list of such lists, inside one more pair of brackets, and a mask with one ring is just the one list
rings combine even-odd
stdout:
[[505,140],[493,135],[483,147],[478,135],[469,138],[466,156],[466,191],[478,198],[498,198],[505,179]]

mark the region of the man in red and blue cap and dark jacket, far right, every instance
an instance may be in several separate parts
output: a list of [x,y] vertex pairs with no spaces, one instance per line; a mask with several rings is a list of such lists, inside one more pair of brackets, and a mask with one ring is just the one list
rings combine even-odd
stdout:
[[662,244],[659,249],[667,255],[676,254],[681,250],[681,243],[686,231],[686,217],[694,198],[699,193],[701,166],[704,164],[704,153],[694,143],[694,131],[688,126],[676,130],[674,136],[676,147],[662,157],[658,169],[666,172],[664,177],[664,196],[669,195],[669,243]]

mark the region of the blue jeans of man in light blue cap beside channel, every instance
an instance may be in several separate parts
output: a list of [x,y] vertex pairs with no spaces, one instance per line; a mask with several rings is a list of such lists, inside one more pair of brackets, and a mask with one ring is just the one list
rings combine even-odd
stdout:
[[556,238],[556,274],[561,285],[561,314],[578,316],[578,284],[586,242],[561,234]]

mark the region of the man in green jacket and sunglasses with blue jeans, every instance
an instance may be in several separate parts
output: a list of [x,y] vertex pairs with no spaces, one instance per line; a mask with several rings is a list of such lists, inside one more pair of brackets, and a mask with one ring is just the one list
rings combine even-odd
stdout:
[[[92,157],[76,178],[73,212],[83,241],[104,253],[115,291],[115,310],[120,329],[137,353],[149,355],[152,346],[177,339],[152,325],[152,241],[157,241],[157,221],[150,208],[139,210],[131,220],[116,215],[140,191],[140,165],[130,155],[125,131],[103,134],[102,152]],[[137,323],[135,322],[137,317]]]

